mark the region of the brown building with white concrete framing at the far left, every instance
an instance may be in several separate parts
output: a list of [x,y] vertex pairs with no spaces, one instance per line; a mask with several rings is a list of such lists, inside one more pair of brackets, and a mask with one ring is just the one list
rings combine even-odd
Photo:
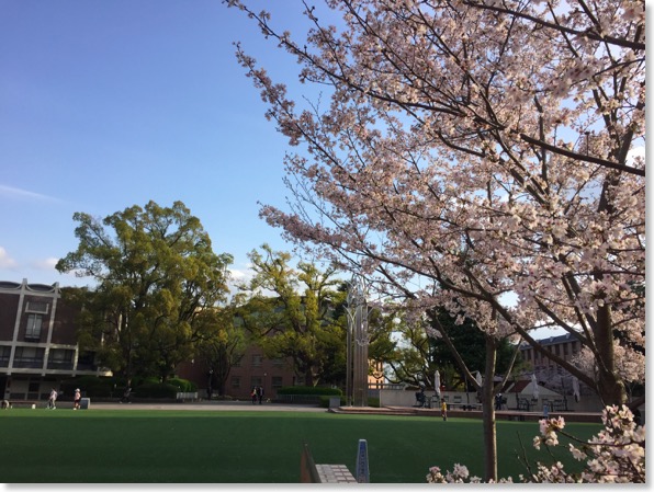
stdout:
[[50,388],[76,376],[109,375],[77,344],[76,310],[59,284],[0,282],[0,394],[45,400]]

